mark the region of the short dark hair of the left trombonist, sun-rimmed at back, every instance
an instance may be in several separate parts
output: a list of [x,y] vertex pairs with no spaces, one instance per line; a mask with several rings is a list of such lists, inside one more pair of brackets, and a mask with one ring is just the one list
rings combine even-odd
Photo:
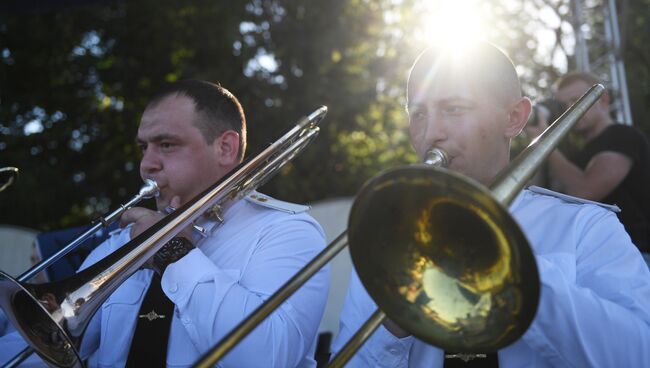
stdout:
[[150,99],[147,107],[157,105],[165,98],[179,95],[194,101],[194,109],[200,116],[193,124],[201,131],[205,142],[210,144],[227,130],[239,134],[239,152],[241,160],[246,151],[246,117],[244,109],[227,89],[217,83],[187,79],[164,85]]

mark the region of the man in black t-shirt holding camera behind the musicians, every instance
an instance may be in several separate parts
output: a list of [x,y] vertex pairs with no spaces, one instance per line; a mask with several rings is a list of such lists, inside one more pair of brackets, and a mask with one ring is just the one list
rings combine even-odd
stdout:
[[[599,79],[588,73],[567,74],[557,83],[556,99],[571,105],[595,83]],[[584,147],[571,160],[555,150],[549,157],[551,177],[567,194],[618,205],[619,219],[650,261],[648,140],[638,129],[612,120],[607,94],[573,129]]]

